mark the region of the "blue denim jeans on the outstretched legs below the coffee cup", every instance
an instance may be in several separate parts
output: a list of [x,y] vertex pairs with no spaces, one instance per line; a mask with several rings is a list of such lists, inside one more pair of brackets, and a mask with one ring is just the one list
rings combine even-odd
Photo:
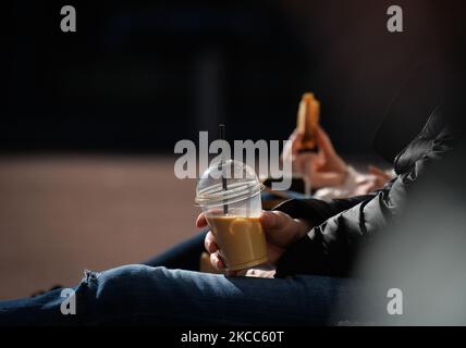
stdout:
[[1,301],[0,325],[309,325],[365,320],[352,310],[361,290],[356,279],[199,273],[195,270],[203,240],[200,234],[147,264],[86,271],[73,288],[75,314],[62,314],[62,289]]

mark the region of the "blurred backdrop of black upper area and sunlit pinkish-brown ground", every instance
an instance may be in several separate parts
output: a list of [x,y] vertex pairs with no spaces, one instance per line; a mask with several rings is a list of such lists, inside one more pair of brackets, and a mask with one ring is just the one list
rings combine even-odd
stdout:
[[[305,91],[340,153],[381,161],[372,136],[436,46],[434,1],[7,1],[0,121],[0,299],[85,268],[140,262],[195,233],[173,147],[286,139]],[[77,32],[60,30],[72,4]]]

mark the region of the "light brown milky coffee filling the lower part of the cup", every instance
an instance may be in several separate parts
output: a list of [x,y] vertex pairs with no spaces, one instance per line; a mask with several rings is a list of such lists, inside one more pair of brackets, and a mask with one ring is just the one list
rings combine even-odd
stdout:
[[259,217],[210,216],[226,270],[236,271],[267,262],[267,244]]

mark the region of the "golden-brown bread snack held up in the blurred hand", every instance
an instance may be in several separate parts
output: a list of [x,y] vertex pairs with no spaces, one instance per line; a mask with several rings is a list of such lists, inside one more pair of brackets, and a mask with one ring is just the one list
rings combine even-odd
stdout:
[[316,133],[319,124],[320,103],[314,94],[304,94],[297,112],[297,129],[303,133],[301,150],[315,150],[317,148]]

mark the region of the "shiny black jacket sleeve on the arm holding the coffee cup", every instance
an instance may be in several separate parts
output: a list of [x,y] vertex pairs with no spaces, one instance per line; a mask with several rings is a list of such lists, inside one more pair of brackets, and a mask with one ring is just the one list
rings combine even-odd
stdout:
[[[438,139],[437,139],[438,140]],[[430,142],[428,153],[413,161],[409,169],[372,195],[346,200],[290,201],[277,209],[295,219],[309,219],[315,227],[293,244],[277,264],[277,277],[293,274],[350,275],[358,249],[390,219],[403,211],[406,192],[446,150],[443,141]]]

